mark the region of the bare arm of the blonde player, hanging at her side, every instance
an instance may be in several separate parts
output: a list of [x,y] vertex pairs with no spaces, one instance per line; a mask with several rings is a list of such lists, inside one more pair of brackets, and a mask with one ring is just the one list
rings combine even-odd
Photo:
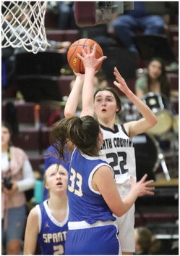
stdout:
[[35,255],[35,248],[38,241],[38,213],[34,207],[27,217],[25,228],[25,244],[23,255]]

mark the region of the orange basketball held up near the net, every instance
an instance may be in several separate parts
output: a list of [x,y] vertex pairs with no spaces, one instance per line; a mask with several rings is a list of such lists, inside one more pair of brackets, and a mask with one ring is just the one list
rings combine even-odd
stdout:
[[[93,46],[97,44],[96,46],[96,52],[95,57],[99,59],[103,56],[103,50],[101,49],[100,45],[96,43],[95,41],[88,39],[88,38],[82,38],[77,41],[75,41],[70,47],[67,52],[67,61],[69,63],[69,66],[74,70],[76,73],[85,73],[85,67],[83,65],[82,60],[77,57],[77,53],[82,55],[82,48],[87,53],[87,46],[90,46],[90,51],[92,51]],[[102,62],[96,67],[96,70],[100,68],[102,65]]]

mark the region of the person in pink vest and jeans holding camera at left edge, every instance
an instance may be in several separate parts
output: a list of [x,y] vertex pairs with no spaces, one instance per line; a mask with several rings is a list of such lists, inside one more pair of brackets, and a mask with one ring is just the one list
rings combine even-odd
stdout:
[[26,221],[25,191],[35,178],[27,154],[11,144],[12,130],[1,124],[1,247],[4,254],[20,255]]

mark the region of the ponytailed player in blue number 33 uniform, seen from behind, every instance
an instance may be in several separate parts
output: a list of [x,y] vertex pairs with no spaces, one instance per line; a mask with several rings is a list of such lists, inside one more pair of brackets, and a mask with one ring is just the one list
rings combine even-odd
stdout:
[[113,169],[99,157],[103,134],[98,121],[92,117],[93,88],[90,94],[86,91],[93,83],[95,68],[92,66],[96,67],[106,57],[95,59],[95,48],[90,53],[87,47],[89,64],[85,67],[81,117],[68,117],[55,123],[50,136],[60,159],[64,158],[67,141],[71,141],[74,148],[68,181],[67,255],[118,255],[121,249],[113,213],[124,215],[138,196],[153,194],[154,189],[147,186],[153,182],[145,182],[147,175],[138,183],[132,178],[131,191],[121,199]]

